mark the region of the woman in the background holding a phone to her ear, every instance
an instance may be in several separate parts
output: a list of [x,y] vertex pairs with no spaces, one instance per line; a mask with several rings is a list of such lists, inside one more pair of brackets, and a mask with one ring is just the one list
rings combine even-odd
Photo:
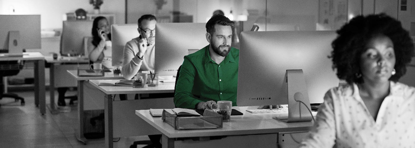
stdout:
[[105,17],[97,17],[92,25],[92,44],[88,45],[89,60],[102,63],[103,68],[112,69],[112,42],[110,26]]

